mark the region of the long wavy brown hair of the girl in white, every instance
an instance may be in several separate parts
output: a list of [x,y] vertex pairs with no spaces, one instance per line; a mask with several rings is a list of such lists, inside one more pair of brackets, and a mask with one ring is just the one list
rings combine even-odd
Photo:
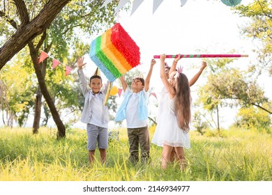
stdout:
[[190,86],[186,75],[182,72],[172,72],[169,77],[169,83],[176,90],[176,96],[174,100],[175,114],[178,119],[179,127],[183,132],[189,132],[191,121],[191,96]]

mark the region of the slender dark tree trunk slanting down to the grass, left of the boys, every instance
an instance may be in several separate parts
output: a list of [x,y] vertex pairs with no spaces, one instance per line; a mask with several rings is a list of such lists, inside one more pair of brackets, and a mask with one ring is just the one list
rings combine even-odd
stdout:
[[40,91],[43,93],[43,97],[45,98],[45,101],[47,102],[47,105],[51,111],[54,122],[56,123],[56,127],[58,128],[57,138],[58,139],[63,138],[66,136],[66,129],[61,121],[61,118],[59,117],[59,113],[56,110],[56,107],[54,106],[54,102],[45,85],[45,77],[43,76],[43,71],[41,70],[40,64],[38,63],[38,54],[33,45],[33,42],[29,42],[29,50],[30,50],[31,59],[33,61],[33,66],[35,68],[35,72],[38,78]]

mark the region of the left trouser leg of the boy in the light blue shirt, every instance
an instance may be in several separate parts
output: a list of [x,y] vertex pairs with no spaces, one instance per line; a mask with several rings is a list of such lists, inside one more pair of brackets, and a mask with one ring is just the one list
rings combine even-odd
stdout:
[[128,143],[130,144],[130,162],[139,161],[139,137],[137,136],[138,129],[128,128]]

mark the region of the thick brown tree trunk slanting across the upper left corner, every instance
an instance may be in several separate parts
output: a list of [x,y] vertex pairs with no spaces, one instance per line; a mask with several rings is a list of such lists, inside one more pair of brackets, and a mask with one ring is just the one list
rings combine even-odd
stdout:
[[[43,33],[50,26],[56,15],[71,0],[51,0],[45,4],[40,13],[29,23],[20,26],[11,38],[0,48],[0,70],[20,52],[33,38]],[[24,23],[22,23],[24,24]]]

